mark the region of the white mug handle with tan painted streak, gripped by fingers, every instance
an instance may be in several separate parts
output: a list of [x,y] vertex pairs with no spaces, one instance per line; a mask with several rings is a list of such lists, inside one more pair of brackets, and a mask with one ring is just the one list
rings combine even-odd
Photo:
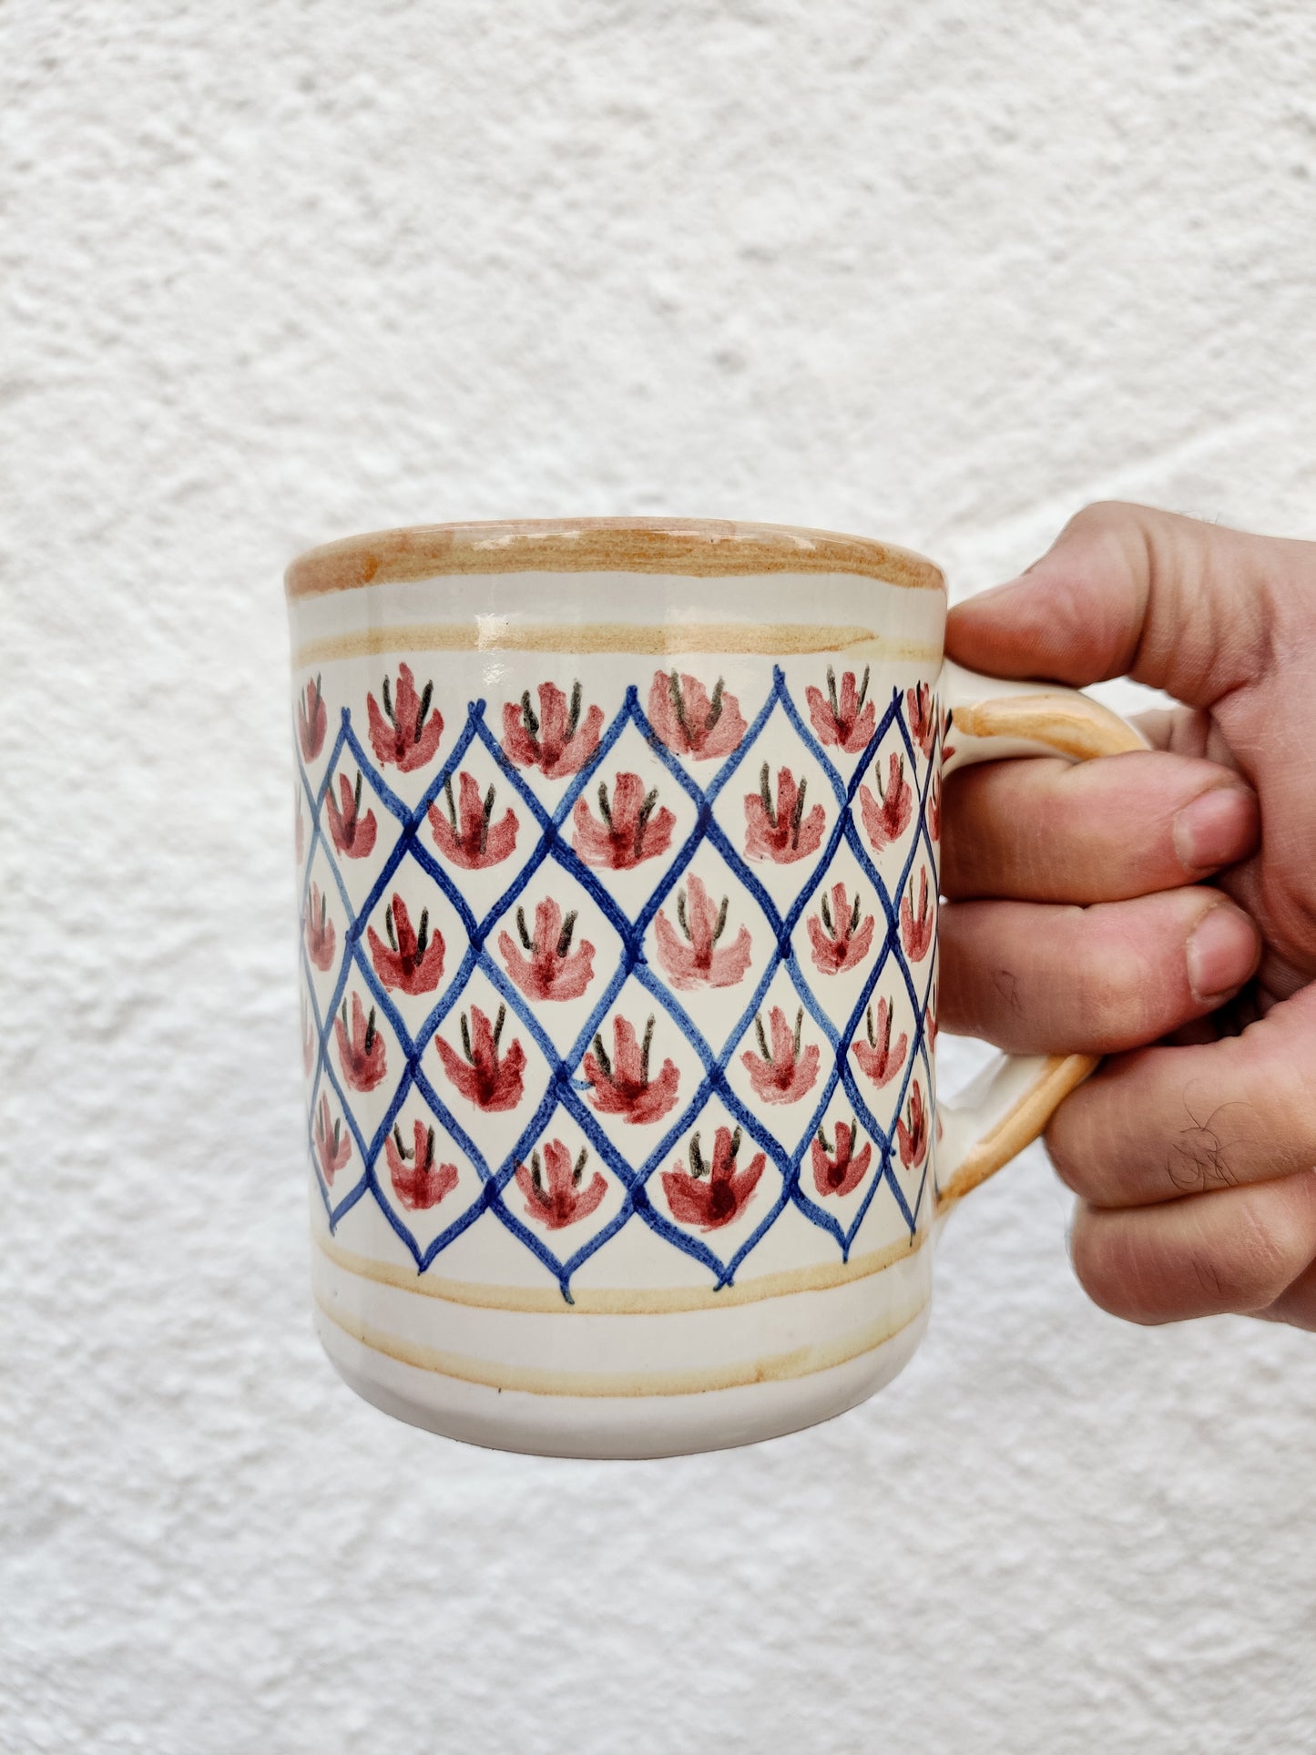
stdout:
[[[1149,748],[1128,720],[1060,683],[1005,683],[946,660],[941,700],[949,709],[942,777],[1004,756],[1091,762]],[[997,1055],[951,1102],[939,1102],[939,1213],[1032,1144],[1098,1058]]]

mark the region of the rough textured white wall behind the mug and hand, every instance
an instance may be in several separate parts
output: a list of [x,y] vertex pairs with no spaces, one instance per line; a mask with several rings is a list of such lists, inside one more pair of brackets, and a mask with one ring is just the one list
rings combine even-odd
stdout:
[[1314,142],[1304,0],[4,9],[4,1748],[1312,1746],[1312,1341],[1086,1306],[1037,1151],[826,1429],[572,1465],[339,1385],[279,570],[1316,535]]

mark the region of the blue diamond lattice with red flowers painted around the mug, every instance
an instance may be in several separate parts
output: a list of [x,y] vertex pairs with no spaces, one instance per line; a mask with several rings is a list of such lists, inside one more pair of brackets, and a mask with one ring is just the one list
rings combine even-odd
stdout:
[[[395,716],[400,720],[404,688],[409,691],[407,713],[418,707],[411,674],[402,669],[404,676],[395,684],[397,707],[384,690],[390,721]],[[676,688],[676,677],[672,681]],[[846,677],[844,686],[853,695],[853,677]],[[835,714],[830,674],[828,688]],[[774,669],[756,714],[753,720],[746,714],[739,742],[718,758],[712,777],[702,784],[693,763],[669,748],[670,727],[654,727],[654,697],[646,713],[639,690],[630,686],[607,727],[598,709],[591,709],[586,727],[591,753],[554,800],[540,797],[533,770],[526,772],[523,762],[511,758],[509,737],[505,734],[500,741],[495,735],[484,700],[467,704],[460,732],[442,755],[444,721],[432,711],[426,691],[414,732],[419,737],[428,723],[433,735],[426,732],[426,742],[433,748],[412,746],[402,762],[402,767],[419,769],[425,781],[419,797],[407,802],[390,786],[386,763],[372,760],[365,739],[358,735],[360,720],[354,721],[347,706],[340,709],[321,777],[312,781],[316,763],[309,756],[319,755],[326,718],[319,681],[307,684],[305,698],[298,702],[297,739],[307,1137],[330,1228],[368,1197],[379,1204],[418,1271],[425,1271],[490,1213],[544,1264],[567,1299],[581,1264],[626,1225],[646,1225],[672,1248],[698,1260],[716,1286],[733,1281],[788,1206],[830,1236],[846,1258],[872,1200],[886,1186],[911,1237],[916,1234],[930,1199],[932,1171],[933,921],[939,767],[946,727],[926,686],[893,688],[884,711],[870,714],[872,735],[846,772],[842,749],[828,751],[816,735],[819,728],[826,734],[832,723],[826,709],[819,721],[819,691],[809,688],[807,693],[812,728],[783,670]],[[449,704],[442,706],[447,709]],[[735,702],[732,707],[739,711]],[[360,728],[379,751],[383,721],[374,698],[368,709],[370,727]],[[716,711],[714,697],[714,718]],[[528,697],[525,713],[526,723],[532,723]],[[755,760],[774,714],[784,720],[784,725],[777,721],[777,730],[788,727],[797,748],[825,776],[832,792],[828,809],[814,802],[805,813],[802,790],[795,799],[783,788],[774,800],[769,765],[760,767]],[[579,698],[572,704],[572,732],[577,720]],[[618,776],[625,758],[623,739],[630,739],[630,748],[639,739],[651,763],[656,760],[662,765],[662,790],[669,790],[670,777],[670,802],[679,806],[677,811],[658,802],[658,788],[649,788],[642,800],[639,795],[637,800],[621,797],[623,781],[632,777]],[[837,735],[828,741],[844,746]],[[849,749],[853,753],[853,741]],[[498,816],[493,809],[495,786],[481,792],[472,777],[472,767],[481,762],[484,774],[495,777],[500,797],[511,793],[523,809],[523,821],[535,830],[532,846],[525,841],[516,846],[512,813]],[[905,763],[912,781],[907,793]],[[349,777],[353,770],[354,781]],[[614,776],[611,804],[607,774]],[[737,776],[740,784],[730,792]],[[747,856],[755,851],[753,825],[749,830],[740,825],[737,835],[735,813],[719,811],[719,800],[739,804],[739,793],[755,779],[765,821],[784,821],[790,813],[797,841],[802,821],[805,827],[812,820],[821,821],[814,855],[777,867],[772,883],[765,881],[772,876],[770,867]],[[895,788],[902,792],[893,804]],[[588,820],[584,813],[593,809],[595,795],[598,806]],[[858,811],[856,800],[862,806]],[[886,828],[893,830],[884,858],[872,856],[874,837],[881,841],[884,835],[883,823],[874,820],[877,800],[886,813]],[[746,818],[755,814],[753,793],[746,795],[744,811]],[[625,818],[621,827],[619,818]],[[583,856],[583,851],[590,853],[590,844],[583,846],[583,825],[595,839],[611,834],[614,841],[639,825],[633,869],[600,869],[597,849],[593,858]],[[653,837],[654,825],[663,830],[665,841],[663,834]],[[361,848],[367,832],[370,846]],[[393,835],[391,846],[386,846],[388,835]],[[642,846],[646,835],[654,844],[662,842],[653,855]],[[351,846],[353,837],[358,839],[356,848]],[[484,849],[481,855],[472,851],[476,844]],[[698,906],[709,911],[714,906],[704,888],[697,888],[691,870],[691,862],[709,849],[721,860],[726,888],[742,918],[749,904],[758,909],[769,946],[767,955],[751,963],[751,937],[744,927],[737,937],[732,920],[719,953],[728,960],[721,985],[728,986],[737,978],[735,1018],[726,1028],[709,1027],[707,997],[695,981],[674,983],[670,974],[676,963],[663,967],[663,958],[656,965],[649,956],[654,927],[672,942],[676,916],[690,939],[691,914]],[[368,865],[349,856],[360,851],[372,855]],[[509,872],[509,881],[502,885],[498,876],[493,890],[484,879],[493,900],[479,914],[472,907],[476,886],[463,881],[465,858],[479,858],[490,869],[505,862]],[[898,867],[888,883],[883,863],[890,876],[897,858]],[[784,870],[791,874],[790,885],[781,878]],[[368,885],[358,872],[370,874]],[[395,885],[404,872],[421,885],[432,904],[425,909],[426,921],[430,913],[435,918],[428,942],[418,939],[416,921],[405,907],[397,918],[393,914],[398,902]],[[842,876],[842,888],[837,888],[837,874]],[[318,876],[325,878],[323,890]],[[556,913],[544,914],[546,902],[540,899],[532,937],[526,907],[535,881],[544,876],[551,878],[558,893],[588,899],[591,909],[581,900],[588,920],[611,928],[616,939],[611,965],[595,971],[593,960],[602,963],[609,948],[597,951],[586,941],[586,930],[600,939],[605,932],[595,925],[581,928],[572,939],[569,911],[558,902],[549,904]],[[862,906],[872,909],[876,934],[872,925],[860,925]],[[805,921],[809,909],[814,913]],[[839,909],[848,911],[846,920],[837,918]],[[447,923],[442,935],[440,918]],[[718,921],[719,937],[725,923],[726,902]],[[812,976],[798,955],[800,923],[809,927],[814,944]],[[546,930],[556,941],[553,949],[561,967],[574,963],[579,974],[590,963],[588,992],[577,995],[574,1009],[565,1007],[570,1011],[569,1039],[549,1023],[553,1007],[542,997],[523,992],[514,979],[518,967],[525,976],[523,953],[530,953],[532,963],[535,956],[542,960]],[[532,946],[537,949],[532,951]],[[590,951],[588,958],[584,951]],[[705,953],[705,974],[707,962]],[[390,972],[397,976],[402,963],[414,978],[412,997],[400,990],[402,978],[384,979]],[[437,976],[440,965],[446,965],[447,979]],[[837,983],[835,969],[851,965],[849,985]],[[909,1028],[900,1034],[895,1049],[891,1018],[897,1000],[879,997],[884,981],[888,993],[895,990],[909,1002]],[[432,993],[425,992],[426,983]],[[574,986],[581,988],[581,981],[576,979]],[[837,1011],[840,986],[844,1006]],[[742,1006],[739,988],[744,988]],[[826,1002],[819,997],[823,990]],[[630,1021],[619,1028],[618,1018],[626,1014],[623,993],[632,1004]],[[418,1000],[414,995],[423,997]],[[640,997],[651,1018],[642,1074],[637,1078],[640,1021],[633,1000]],[[498,1021],[491,1025],[495,1007]],[[609,1020],[611,1053],[602,1034]],[[651,1076],[654,1020],[662,1021],[658,1053],[665,1058],[662,1072]],[[809,1044],[802,1041],[805,1020]],[[461,1058],[454,1030],[458,1021]],[[447,1032],[440,1035],[446,1025]],[[526,1046],[521,1046],[521,1034],[512,1039],[514,1030],[523,1032]],[[667,1046],[676,1060],[667,1055]],[[751,1064],[749,1092],[742,1074],[746,1062]],[[800,1071],[797,1085],[809,1100],[800,1095],[783,1109],[755,1100],[767,1088],[762,1079],[777,1074],[788,1079],[793,1067],[805,1064],[814,1069],[812,1078],[805,1083]],[[363,1095],[375,1086],[381,1099]],[[507,1102],[511,1095],[518,1100]],[[383,1111],[375,1114],[381,1100]],[[837,1120],[833,1100],[840,1102],[848,1121]],[[621,1111],[619,1118],[616,1111]],[[783,1137],[783,1121],[790,1125],[790,1137]],[[569,1134],[567,1144],[560,1139],[563,1132]],[[640,1148],[632,1141],[640,1141]],[[742,1141],[749,1143],[747,1150]],[[742,1150],[739,1165],[735,1148]],[[456,1162],[442,1164],[449,1155]],[[751,1176],[753,1165],[760,1169]],[[842,1202],[832,1199],[835,1195],[849,1199]]]

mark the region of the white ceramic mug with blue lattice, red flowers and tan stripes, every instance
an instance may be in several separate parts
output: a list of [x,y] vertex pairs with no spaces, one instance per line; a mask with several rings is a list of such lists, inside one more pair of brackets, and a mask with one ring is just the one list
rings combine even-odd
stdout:
[[574,1457],[888,1383],[946,1211],[1093,1067],[937,1099],[941,786],[1141,748],[942,660],[941,570],[772,525],[288,569],[312,1285],[375,1406]]

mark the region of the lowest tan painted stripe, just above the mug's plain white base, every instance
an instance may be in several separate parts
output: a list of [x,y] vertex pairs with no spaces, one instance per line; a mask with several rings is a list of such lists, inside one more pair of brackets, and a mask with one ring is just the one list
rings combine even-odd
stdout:
[[432,1371],[458,1383],[477,1383],[488,1390],[521,1390],[526,1395],[581,1395],[581,1397],[642,1397],[642,1395],[704,1395],[709,1390],[737,1390],[749,1383],[783,1383],[791,1378],[811,1378],[819,1371],[846,1365],[851,1358],[872,1353],[907,1329],[926,1307],[907,1306],[851,1329],[830,1346],[797,1346],[788,1353],[765,1353],[762,1358],[733,1365],[707,1365],[691,1371],[549,1371],[539,1365],[504,1365],[497,1360],[470,1358],[467,1353],[447,1353],[437,1346],[421,1346],[400,1336],[384,1334],[374,1323],[361,1322],[347,1311],[332,1309],[316,1292],[316,1304],[337,1329],[353,1341],[383,1353],[402,1365]]

